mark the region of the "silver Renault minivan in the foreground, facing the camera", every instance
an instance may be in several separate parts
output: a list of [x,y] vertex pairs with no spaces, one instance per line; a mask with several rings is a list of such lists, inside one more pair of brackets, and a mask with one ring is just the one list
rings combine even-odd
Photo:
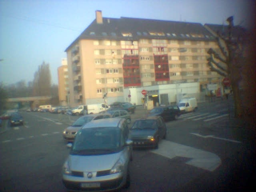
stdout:
[[68,190],[101,192],[130,185],[132,140],[124,118],[88,122],[67,146],[62,181]]

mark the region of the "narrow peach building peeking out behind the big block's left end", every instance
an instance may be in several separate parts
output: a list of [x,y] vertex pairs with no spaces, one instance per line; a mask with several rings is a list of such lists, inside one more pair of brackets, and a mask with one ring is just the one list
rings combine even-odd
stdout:
[[61,60],[62,66],[58,67],[58,94],[61,106],[68,105],[68,62],[66,58]]

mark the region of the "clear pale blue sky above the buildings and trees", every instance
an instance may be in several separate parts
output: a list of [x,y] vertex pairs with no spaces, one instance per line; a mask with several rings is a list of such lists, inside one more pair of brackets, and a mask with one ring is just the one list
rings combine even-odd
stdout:
[[255,0],[0,0],[0,83],[33,81],[38,67],[50,65],[52,84],[65,49],[102,17],[145,18],[227,24],[251,28]]

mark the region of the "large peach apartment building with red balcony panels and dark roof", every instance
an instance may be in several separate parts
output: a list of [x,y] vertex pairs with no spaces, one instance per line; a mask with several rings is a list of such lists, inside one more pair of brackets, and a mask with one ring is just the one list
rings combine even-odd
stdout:
[[141,90],[148,99],[170,103],[178,90],[196,86],[192,92],[200,92],[220,84],[222,77],[207,65],[209,48],[218,48],[216,38],[200,23],[103,18],[96,11],[96,19],[65,50],[70,105],[102,102],[105,93],[108,103],[141,104]]

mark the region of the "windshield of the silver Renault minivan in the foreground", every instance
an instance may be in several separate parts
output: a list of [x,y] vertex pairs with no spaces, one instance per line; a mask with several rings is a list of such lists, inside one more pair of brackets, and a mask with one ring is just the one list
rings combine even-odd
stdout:
[[120,150],[120,129],[84,128],[76,134],[71,154],[109,154]]

